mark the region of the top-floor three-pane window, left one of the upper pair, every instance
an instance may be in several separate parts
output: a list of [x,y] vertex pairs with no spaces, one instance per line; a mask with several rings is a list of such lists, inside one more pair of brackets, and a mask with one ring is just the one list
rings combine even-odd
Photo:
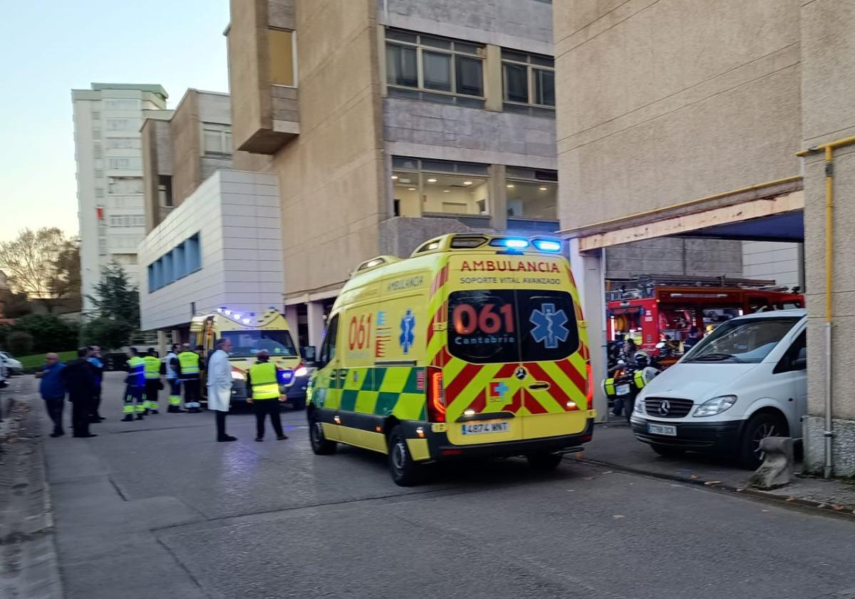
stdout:
[[483,45],[387,30],[389,95],[483,108],[483,56]]

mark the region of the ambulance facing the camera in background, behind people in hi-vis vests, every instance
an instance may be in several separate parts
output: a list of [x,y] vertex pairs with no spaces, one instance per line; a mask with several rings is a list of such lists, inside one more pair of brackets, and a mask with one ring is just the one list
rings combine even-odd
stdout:
[[[232,341],[229,363],[232,365],[233,401],[246,400],[246,372],[255,364],[258,351],[266,349],[270,361],[285,371],[285,383],[281,391],[286,394],[286,403],[294,409],[305,406],[310,369],[300,358],[288,323],[280,311],[271,306],[257,315],[221,306],[216,311],[192,318],[190,345],[201,345],[205,358],[214,350],[214,341],[220,337]],[[207,389],[204,385],[202,389],[204,399]]]

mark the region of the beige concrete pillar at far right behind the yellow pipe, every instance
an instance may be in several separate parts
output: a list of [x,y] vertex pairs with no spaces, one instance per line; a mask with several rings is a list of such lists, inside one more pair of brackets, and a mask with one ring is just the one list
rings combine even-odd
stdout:
[[[817,0],[801,7],[802,147],[855,135],[855,0]],[[828,133],[834,132],[834,133]],[[808,309],[808,416],[805,466],[823,472],[826,415],[826,365],[831,367],[832,462],[835,476],[855,476],[855,145],[834,150],[833,264],[826,264],[825,164],[823,152],[805,157],[805,270]],[[825,286],[831,269],[832,287]],[[831,294],[831,354],[825,348],[825,299]]]

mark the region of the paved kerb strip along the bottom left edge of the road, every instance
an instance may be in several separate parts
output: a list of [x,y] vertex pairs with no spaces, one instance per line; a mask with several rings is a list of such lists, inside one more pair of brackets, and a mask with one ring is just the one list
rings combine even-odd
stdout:
[[13,398],[0,428],[0,596],[62,599],[40,406],[32,404]]

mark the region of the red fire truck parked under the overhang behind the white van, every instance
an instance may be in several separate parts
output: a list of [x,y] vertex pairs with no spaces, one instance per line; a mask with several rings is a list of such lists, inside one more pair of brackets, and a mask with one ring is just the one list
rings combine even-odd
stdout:
[[670,340],[676,346],[687,339],[692,327],[705,331],[743,314],[805,305],[804,296],[798,293],[749,287],[771,282],[716,281],[727,286],[666,286],[648,281],[630,291],[625,287],[611,291],[606,304],[608,341],[622,335],[632,338],[640,349],[658,355],[659,341]]

